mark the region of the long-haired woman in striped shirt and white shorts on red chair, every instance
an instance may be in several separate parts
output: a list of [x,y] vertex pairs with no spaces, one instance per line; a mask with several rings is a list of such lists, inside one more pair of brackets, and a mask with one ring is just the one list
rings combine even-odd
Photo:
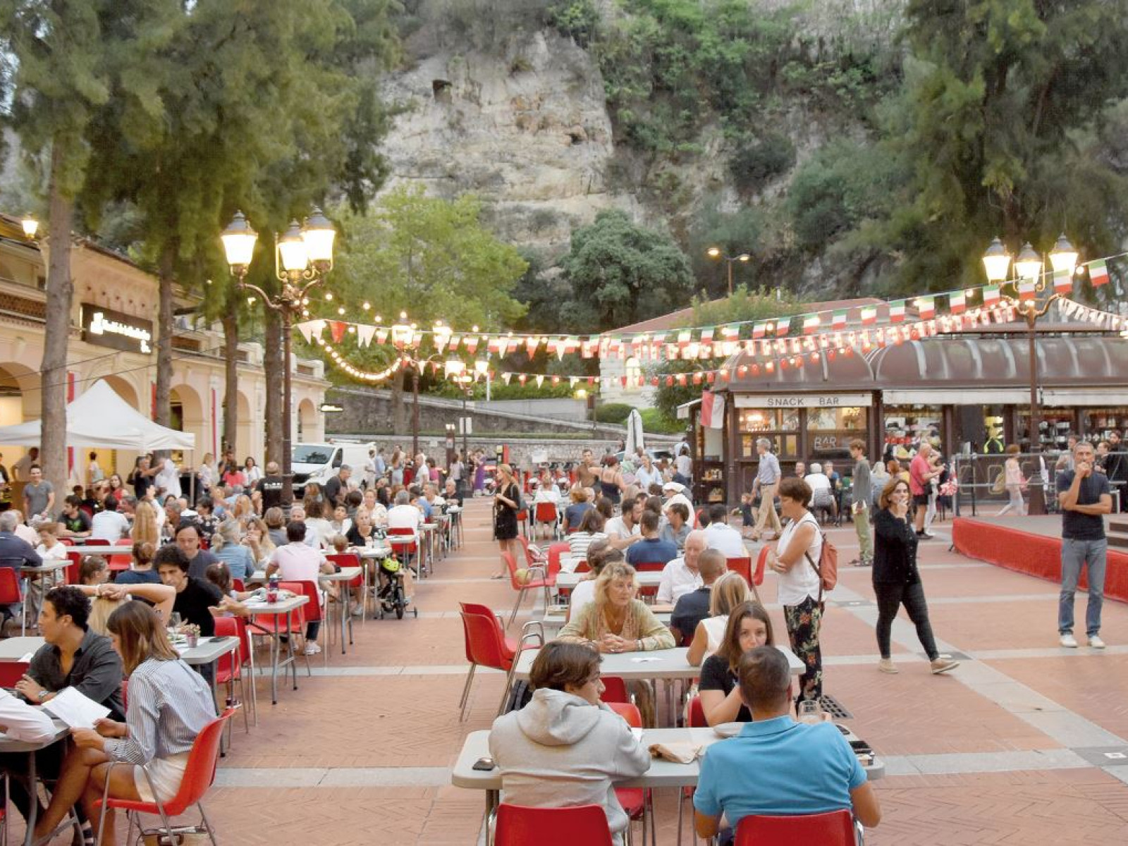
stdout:
[[[79,799],[97,830],[100,809],[94,803],[107,779],[114,799],[152,802],[156,791],[161,802],[170,800],[196,735],[215,719],[211,688],[179,660],[151,608],[126,602],[109,616],[107,627],[130,679],[125,723],[99,720],[94,729],[71,730],[74,746],[35,827],[36,840],[53,831]],[[114,812],[105,813],[103,843],[113,846]]]

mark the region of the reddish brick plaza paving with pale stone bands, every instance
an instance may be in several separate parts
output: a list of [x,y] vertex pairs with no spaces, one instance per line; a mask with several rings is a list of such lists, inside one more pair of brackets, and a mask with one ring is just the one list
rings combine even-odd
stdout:
[[[478,672],[460,723],[458,602],[508,614],[513,593],[488,579],[488,504],[466,515],[467,544],[418,587],[418,619],[358,627],[347,655],[317,656],[312,678],[302,666],[276,706],[259,680],[258,726],[248,735],[236,722],[206,800],[220,843],[478,841],[484,797],[450,786],[450,766],[466,734],[490,726],[503,677]],[[948,553],[949,525],[935,529],[922,547],[925,590],[941,650],[963,662],[945,677],[929,675],[904,614],[900,673],[878,672],[870,573],[845,566],[853,530],[830,531],[844,566],[823,625],[826,693],[888,772],[875,783],[884,818],[866,843],[1128,843],[1128,606],[1105,605],[1103,652],[1060,649],[1055,585]],[[760,590],[785,632],[770,573]],[[655,793],[658,840],[676,843],[677,792]]]

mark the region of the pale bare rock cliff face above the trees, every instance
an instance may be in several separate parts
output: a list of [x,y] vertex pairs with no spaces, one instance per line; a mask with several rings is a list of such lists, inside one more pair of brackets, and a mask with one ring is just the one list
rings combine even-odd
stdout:
[[473,191],[501,237],[557,254],[600,210],[637,203],[607,187],[611,122],[590,56],[548,30],[505,42],[490,53],[433,47],[388,78],[385,97],[404,112],[381,146],[387,187]]

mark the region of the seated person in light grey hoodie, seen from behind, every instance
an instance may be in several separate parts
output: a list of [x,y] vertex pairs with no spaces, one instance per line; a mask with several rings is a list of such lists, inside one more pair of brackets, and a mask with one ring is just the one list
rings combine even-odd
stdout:
[[615,782],[650,769],[650,752],[599,700],[599,653],[553,641],[532,662],[532,699],[494,721],[490,755],[501,769],[502,801],[530,808],[603,807],[616,846],[629,825]]

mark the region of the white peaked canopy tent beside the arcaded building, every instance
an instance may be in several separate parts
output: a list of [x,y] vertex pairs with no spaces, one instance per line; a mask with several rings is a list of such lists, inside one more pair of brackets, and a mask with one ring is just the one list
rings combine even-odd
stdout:
[[[0,426],[0,444],[28,447],[42,441],[42,421]],[[104,380],[67,406],[67,446],[132,449],[194,449],[196,437],[153,423]]]

